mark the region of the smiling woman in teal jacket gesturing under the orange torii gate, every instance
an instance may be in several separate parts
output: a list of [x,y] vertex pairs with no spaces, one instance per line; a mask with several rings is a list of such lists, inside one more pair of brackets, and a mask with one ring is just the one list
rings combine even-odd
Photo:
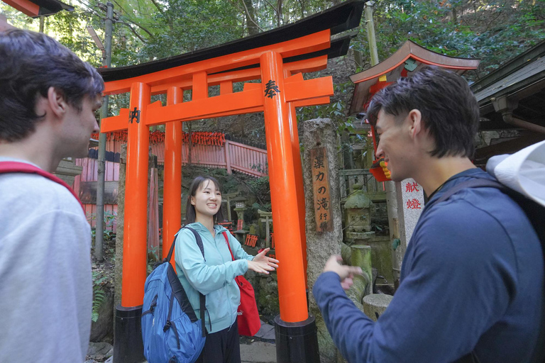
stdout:
[[276,259],[265,255],[268,248],[255,257],[248,255],[228,232],[225,235],[235,257],[233,261],[224,237],[227,230],[215,224],[223,219],[218,181],[213,177],[195,178],[187,197],[186,225],[201,236],[204,259],[193,233],[182,229],[176,238],[175,260],[178,278],[197,316],[199,292],[207,298],[205,323],[209,334],[197,362],[241,362],[236,325],[241,293],[234,279],[248,269],[268,274],[278,267]]

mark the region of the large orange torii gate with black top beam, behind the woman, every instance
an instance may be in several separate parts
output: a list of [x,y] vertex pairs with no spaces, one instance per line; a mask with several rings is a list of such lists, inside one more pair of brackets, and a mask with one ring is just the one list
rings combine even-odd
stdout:
[[[106,82],[104,94],[131,93],[129,108],[101,123],[102,133],[128,130],[123,282],[118,313],[133,311],[134,315],[128,315],[139,320],[143,303],[147,274],[147,195],[143,191],[148,190],[150,126],[165,124],[165,256],[170,238],[180,228],[182,122],[263,111],[272,220],[278,226],[276,257],[280,260],[276,333],[277,340],[285,340],[283,346],[277,341],[278,359],[316,361],[314,317],[309,316],[307,308],[304,190],[295,107],[329,103],[334,93],[332,78],[305,80],[302,72],[324,69],[328,57],[346,54],[350,38],[331,42],[331,35],[358,26],[362,10],[363,1],[349,1],[303,21],[218,47],[144,65],[100,69]],[[261,82],[245,83],[243,91],[233,92],[234,82],[257,79]],[[219,96],[210,97],[209,87],[218,85]],[[183,102],[186,89],[191,90],[192,99]],[[151,104],[153,94],[167,94],[167,105],[160,101]],[[123,340],[123,333],[117,330],[116,338]],[[289,335],[293,336],[288,339]],[[119,355],[123,350],[135,350],[133,340],[125,340],[124,349],[114,347]],[[297,348],[290,347],[293,345]]]

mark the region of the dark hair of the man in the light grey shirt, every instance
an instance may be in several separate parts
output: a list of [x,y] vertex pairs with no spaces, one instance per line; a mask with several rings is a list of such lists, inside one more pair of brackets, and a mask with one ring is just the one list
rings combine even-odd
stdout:
[[35,113],[36,102],[50,87],[81,111],[84,96],[99,96],[104,81],[97,69],[47,35],[20,29],[0,33],[0,140],[33,133],[45,116]]

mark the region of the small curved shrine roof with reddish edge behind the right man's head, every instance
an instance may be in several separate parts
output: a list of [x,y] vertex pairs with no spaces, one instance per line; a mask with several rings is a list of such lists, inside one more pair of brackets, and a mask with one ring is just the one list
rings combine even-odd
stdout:
[[428,50],[412,40],[407,40],[400,49],[380,62],[378,65],[365,69],[350,76],[351,81],[356,84],[350,106],[350,114],[363,111],[368,103],[370,87],[379,82],[379,78],[386,76],[387,82],[394,82],[402,77],[404,69],[407,75],[417,72],[426,65],[436,65],[450,69],[458,74],[463,74],[468,69],[478,67],[480,60],[471,58],[458,58],[442,55]]

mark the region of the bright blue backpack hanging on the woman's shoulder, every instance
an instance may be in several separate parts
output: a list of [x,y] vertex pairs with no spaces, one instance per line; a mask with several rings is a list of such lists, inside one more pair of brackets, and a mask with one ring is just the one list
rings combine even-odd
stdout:
[[[195,235],[204,257],[201,236],[196,230],[185,228]],[[156,264],[145,279],[142,340],[144,355],[149,363],[193,363],[201,354],[206,340],[205,297],[199,293],[201,316],[197,319],[182,283],[170,264],[175,242],[176,237],[167,258]]]

